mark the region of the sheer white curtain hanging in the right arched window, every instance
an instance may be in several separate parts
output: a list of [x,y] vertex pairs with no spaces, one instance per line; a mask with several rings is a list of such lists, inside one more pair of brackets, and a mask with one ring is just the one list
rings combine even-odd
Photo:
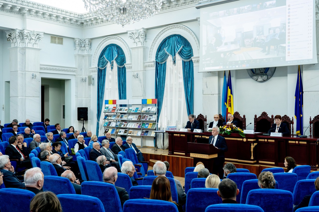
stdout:
[[[166,78],[162,110],[159,115],[158,129],[166,130],[167,126],[177,126],[177,129],[186,125],[187,109],[183,84],[182,60],[176,54],[176,65],[173,65],[172,57],[169,56],[166,62]],[[167,133],[157,134],[157,146],[168,147]]]

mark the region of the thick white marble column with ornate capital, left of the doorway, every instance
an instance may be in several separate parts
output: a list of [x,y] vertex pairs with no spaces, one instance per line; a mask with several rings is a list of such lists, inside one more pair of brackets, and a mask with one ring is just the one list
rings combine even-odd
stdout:
[[41,79],[39,42],[43,32],[7,31],[10,51],[10,120],[31,122],[41,119]]

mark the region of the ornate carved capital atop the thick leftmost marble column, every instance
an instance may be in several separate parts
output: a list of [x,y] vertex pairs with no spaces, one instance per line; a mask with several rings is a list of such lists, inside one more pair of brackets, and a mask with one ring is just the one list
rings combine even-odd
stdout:
[[11,41],[11,47],[32,47],[38,48],[39,41],[43,38],[43,32],[30,30],[10,30],[6,31],[8,40]]

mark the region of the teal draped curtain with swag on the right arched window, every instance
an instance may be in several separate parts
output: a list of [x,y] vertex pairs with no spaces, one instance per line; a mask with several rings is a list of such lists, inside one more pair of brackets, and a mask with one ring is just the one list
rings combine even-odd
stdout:
[[182,58],[184,93],[188,114],[194,111],[194,65],[192,61],[193,50],[187,39],[181,35],[170,35],[164,39],[157,49],[155,56],[155,98],[157,98],[158,117],[163,103],[166,61],[169,55],[175,64],[176,53]]

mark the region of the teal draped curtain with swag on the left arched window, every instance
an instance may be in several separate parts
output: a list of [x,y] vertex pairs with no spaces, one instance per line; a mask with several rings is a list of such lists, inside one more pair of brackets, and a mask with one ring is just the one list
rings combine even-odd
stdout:
[[98,61],[98,89],[97,89],[97,123],[96,135],[99,134],[99,120],[104,104],[104,90],[105,90],[105,75],[106,66],[108,63],[113,70],[114,61],[117,64],[117,81],[119,99],[126,99],[126,68],[125,68],[125,54],[122,48],[116,44],[106,46],[100,54]]

